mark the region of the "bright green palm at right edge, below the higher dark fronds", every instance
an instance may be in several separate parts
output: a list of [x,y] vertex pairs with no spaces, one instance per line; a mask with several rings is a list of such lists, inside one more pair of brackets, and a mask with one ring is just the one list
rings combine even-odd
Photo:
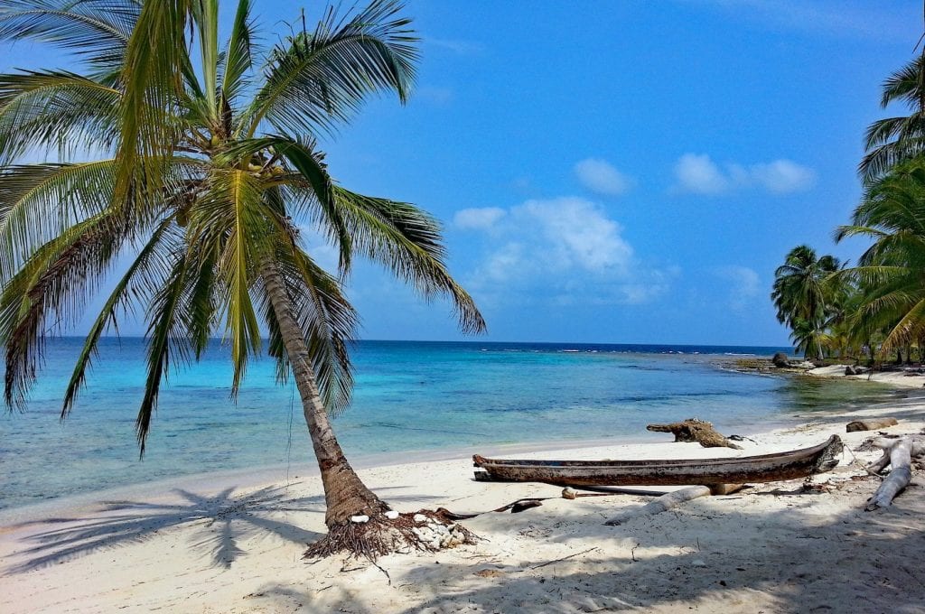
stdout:
[[885,330],[882,350],[925,338],[925,160],[895,166],[874,181],[852,223],[836,239],[863,236],[873,244],[845,271],[862,290],[855,320]]

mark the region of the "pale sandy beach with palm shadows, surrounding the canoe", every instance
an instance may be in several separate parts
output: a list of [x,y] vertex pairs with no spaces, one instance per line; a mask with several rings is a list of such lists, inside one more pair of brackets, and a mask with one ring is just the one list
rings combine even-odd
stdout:
[[[845,423],[872,416],[897,418],[888,432],[919,432],[925,397],[754,435],[742,451],[665,443],[524,456],[741,456],[834,433],[853,449],[870,434],[845,434]],[[477,483],[469,459],[366,469],[366,483],[401,511],[484,511],[551,497],[464,522],[482,537],[475,546],[389,556],[378,567],[301,559],[324,531],[316,477],[205,478],[0,529],[0,611],[925,612],[923,478],[892,508],[865,512],[880,479],[863,465],[877,456],[846,449],[812,488],[756,485],[615,527],[603,522],[648,497],[566,500],[550,485]]]

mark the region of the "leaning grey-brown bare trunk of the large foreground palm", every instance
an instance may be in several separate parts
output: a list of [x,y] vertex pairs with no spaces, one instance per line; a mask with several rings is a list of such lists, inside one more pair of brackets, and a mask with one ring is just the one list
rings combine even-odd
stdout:
[[374,516],[387,511],[388,505],[376,497],[353,471],[337,437],[334,436],[325,404],[318,392],[308,344],[302,328],[292,314],[292,302],[282,276],[273,264],[265,263],[261,267],[261,277],[273,305],[273,312],[277,316],[279,331],[292,366],[292,375],[302,399],[302,413],[305,416],[305,424],[308,425],[309,436],[312,438],[314,456],[318,461],[321,482],[325,488],[327,527],[349,522],[353,515]]

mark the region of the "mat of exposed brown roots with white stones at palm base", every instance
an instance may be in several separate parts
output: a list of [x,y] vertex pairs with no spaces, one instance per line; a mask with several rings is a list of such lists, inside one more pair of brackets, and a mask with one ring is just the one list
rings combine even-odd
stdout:
[[477,535],[439,511],[420,510],[399,514],[394,520],[376,515],[368,522],[341,522],[308,546],[302,559],[322,559],[344,553],[354,559],[376,562],[379,557],[396,552],[437,552],[461,544],[475,544],[477,540]]

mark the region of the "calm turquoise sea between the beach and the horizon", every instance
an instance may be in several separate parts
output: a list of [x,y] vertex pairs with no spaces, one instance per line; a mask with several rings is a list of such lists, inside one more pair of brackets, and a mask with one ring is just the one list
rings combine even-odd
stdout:
[[[227,350],[171,375],[143,461],[134,419],[141,339],[104,339],[77,409],[58,420],[80,339],[57,339],[28,411],[0,416],[0,510],[179,474],[311,461],[298,396],[253,362],[237,403]],[[777,348],[359,342],[350,411],[335,421],[351,458],[510,443],[663,438],[646,424],[696,416],[729,433],[878,399],[878,387],[742,375],[716,355]],[[672,353],[669,353],[672,352]],[[684,352],[684,353],[678,353]],[[293,402],[294,401],[294,402]],[[760,426],[759,426],[760,425]]]

